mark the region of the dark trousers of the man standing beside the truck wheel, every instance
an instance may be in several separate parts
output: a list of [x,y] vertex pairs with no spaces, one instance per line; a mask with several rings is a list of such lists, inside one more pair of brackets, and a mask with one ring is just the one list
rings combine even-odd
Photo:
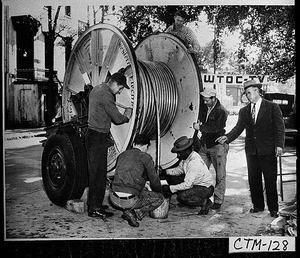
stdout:
[[89,166],[88,205],[90,211],[101,209],[106,189],[108,134],[88,129],[85,144]]

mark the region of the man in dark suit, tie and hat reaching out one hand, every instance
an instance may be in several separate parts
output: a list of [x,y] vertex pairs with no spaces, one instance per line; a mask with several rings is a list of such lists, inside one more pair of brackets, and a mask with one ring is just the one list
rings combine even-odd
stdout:
[[267,205],[272,217],[277,217],[277,159],[284,147],[284,121],[279,106],[261,98],[262,85],[255,80],[244,82],[249,104],[239,111],[235,127],[217,139],[220,143],[232,142],[246,129],[245,152],[248,181],[253,207],[251,213],[264,210],[264,176]]

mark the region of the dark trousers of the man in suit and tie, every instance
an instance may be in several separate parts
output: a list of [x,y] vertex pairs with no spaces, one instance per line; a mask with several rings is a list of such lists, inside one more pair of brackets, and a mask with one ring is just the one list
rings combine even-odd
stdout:
[[246,155],[251,200],[254,208],[264,209],[264,176],[269,211],[278,211],[277,159],[275,153],[268,155]]

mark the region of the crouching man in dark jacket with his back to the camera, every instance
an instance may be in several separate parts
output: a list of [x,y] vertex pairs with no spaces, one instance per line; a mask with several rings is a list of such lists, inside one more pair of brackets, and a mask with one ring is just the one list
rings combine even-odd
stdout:
[[[123,210],[122,218],[132,227],[138,227],[137,220],[142,220],[164,201],[159,173],[152,157],[146,153],[149,146],[149,137],[137,135],[133,148],[117,158],[110,200]],[[146,181],[150,182],[152,191],[145,188]]]

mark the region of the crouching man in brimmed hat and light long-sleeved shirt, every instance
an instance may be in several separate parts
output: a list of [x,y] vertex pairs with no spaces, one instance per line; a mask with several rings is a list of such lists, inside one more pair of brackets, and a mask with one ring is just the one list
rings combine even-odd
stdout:
[[163,185],[164,195],[177,193],[177,201],[185,206],[201,207],[199,215],[209,212],[214,193],[212,176],[200,155],[193,151],[193,139],[182,136],[174,143],[171,152],[180,160],[175,168],[163,170],[169,185]]

